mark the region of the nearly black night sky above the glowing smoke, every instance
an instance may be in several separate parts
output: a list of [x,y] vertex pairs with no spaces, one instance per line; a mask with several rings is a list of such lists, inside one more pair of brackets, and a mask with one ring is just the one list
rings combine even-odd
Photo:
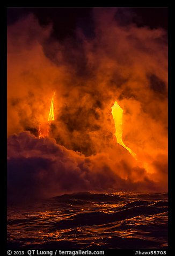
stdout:
[[[93,37],[93,8],[8,8],[8,25],[33,13],[40,25],[53,24],[52,37],[63,40],[68,34],[75,37],[76,27],[81,27],[86,36]],[[168,8],[120,8],[120,23],[135,23],[137,26],[149,26],[151,29],[162,27],[167,30]],[[118,18],[119,19],[119,18]],[[120,18],[121,19],[121,18]],[[118,20],[119,21],[119,20]]]

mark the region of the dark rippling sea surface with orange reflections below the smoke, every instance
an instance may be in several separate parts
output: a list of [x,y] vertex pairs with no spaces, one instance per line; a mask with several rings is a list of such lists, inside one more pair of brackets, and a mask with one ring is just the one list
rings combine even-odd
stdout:
[[8,249],[167,248],[167,194],[75,193],[8,207]]

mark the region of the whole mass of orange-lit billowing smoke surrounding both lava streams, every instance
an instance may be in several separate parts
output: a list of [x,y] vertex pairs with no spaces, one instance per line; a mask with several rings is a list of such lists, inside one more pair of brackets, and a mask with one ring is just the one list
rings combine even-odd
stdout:
[[[167,34],[122,15],[95,8],[93,35],[63,40],[32,14],[8,26],[9,194],[167,189]],[[52,139],[24,133],[37,135],[54,91]],[[137,162],[114,139],[115,101]]]

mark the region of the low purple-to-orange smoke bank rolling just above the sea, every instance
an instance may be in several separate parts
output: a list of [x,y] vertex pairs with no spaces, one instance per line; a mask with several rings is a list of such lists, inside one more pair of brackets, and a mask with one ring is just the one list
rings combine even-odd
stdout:
[[[9,202],[77,191],[157,191],[144,168],[116,144],[108,152],[85,157],[29,132],[8,138]],[[113,153],[115,152],[115,154]]]

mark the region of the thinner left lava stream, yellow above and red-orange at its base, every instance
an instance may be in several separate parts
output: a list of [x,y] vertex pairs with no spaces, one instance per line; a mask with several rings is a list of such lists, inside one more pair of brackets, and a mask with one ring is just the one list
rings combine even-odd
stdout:
[[39,124],[39,130],[38,130],[39,138],[44,138],[44,137],[49,136],[50,122],[55,120],[55,118],[54,118],[54,96],[55,96],[55,92],[54,92],[54,95],[53,95],[51,103],[50,103],[50,111],[49,111],[47,122]]

